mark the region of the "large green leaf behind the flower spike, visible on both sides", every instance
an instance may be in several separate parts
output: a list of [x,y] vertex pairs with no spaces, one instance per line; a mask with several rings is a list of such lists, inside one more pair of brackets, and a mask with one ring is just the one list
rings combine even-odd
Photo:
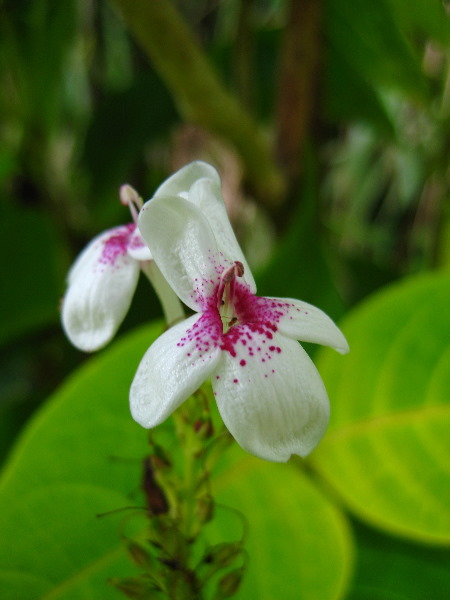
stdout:
[[[6,597],[103,600],[119,597],[107,578],[134,574],[120,544],[133,517],[95,515],[140,503],[148,446],[129,415],[128,388],[161,330],[139,330],[89,361],[17,444],[0,480]],[[345,519],[295,464],[268,464],[235,448],[214,488],[248,522],[250,566],[239,597],[254,590],[262,600],[313,600],[317,591],[324,600],[343,597],[352,558]],[[235,511],[218,509],[208,543],[237,535],[241,525]]]

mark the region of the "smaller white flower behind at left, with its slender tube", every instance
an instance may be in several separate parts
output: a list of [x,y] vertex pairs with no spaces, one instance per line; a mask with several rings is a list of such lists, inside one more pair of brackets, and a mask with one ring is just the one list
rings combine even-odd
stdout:
[[[137,193],[124,185],[120,195],[137,220],[134,205],[142,206]],[[166,314],[170,313],[171,320],[182,316],[180,303],[154,264],[136,224],[121,225],[95,237],[69,271],[62,324],[74,346],[92,352],[113,338],[130,307],[141,270],[165,310],[169,307]]]

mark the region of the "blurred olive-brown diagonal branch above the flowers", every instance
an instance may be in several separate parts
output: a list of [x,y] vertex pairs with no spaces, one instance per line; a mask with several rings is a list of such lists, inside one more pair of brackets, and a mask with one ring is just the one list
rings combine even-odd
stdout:
[[257,200],[268,208],[279,206],[285,186],[269,139],[225,89],[170,0],[111,1],[172,92],[184,119],[231,143]]

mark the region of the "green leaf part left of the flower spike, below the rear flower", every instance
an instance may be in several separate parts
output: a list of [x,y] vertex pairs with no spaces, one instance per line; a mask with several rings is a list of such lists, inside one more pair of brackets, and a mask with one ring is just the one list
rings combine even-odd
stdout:
[[137,504],[146,434],[129,416],[128,388],[161,331],[155,325],[91,360],[14,449],[0,480],[0,589],[8,598],[122,598],[107,583],[134,574],[120,522],[96,515]]

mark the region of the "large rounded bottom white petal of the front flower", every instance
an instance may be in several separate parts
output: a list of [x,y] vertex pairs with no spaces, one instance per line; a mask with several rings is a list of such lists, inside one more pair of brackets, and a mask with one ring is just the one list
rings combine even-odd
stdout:
[[253,335],[252,356],[248,344],[234,346],[235,356],[223,352],[213,389],[239,445],[260,458],[284,462],[291,454],[306,456],[318,444],[328,424],[329,401],[298,342],[275,333],[274,350],[257,352],[264,339]]

